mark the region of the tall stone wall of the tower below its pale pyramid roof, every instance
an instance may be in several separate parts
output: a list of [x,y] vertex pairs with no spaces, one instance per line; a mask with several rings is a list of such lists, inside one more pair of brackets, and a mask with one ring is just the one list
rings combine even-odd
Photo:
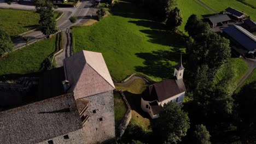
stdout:
[[113,91],[91,95],[83,99],[90,100],[90,105],[86,111],[90,118],[83,127],[85,143],[115,139]]

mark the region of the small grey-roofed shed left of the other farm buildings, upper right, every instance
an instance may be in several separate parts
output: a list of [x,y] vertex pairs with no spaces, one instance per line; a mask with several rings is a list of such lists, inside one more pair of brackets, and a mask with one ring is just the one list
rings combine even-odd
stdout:
[[231,20],[226,14],[208,16],[205,19],[211,23],[211,27],[222,26],[224,23],[228,23]]

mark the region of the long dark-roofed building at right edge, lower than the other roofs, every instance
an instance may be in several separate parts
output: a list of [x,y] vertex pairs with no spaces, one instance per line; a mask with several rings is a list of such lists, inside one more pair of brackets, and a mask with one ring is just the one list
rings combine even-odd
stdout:
[[256,49],[255,35],[241,26],[230,25],[229,27],[222,29],[221,32],[236,45],[236,51],[240,53],[240,55],[245,55]]

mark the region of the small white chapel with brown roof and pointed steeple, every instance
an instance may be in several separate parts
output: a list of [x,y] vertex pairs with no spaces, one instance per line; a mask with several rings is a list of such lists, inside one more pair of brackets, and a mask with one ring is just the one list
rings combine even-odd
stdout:
[[175,79],[166,79],[150,85],[141,97],[141,109],[151,118],[158,118],[164,104],[176,102],[182,104],[185,95],[183,82],[184,67],[182,57],[174,69]]

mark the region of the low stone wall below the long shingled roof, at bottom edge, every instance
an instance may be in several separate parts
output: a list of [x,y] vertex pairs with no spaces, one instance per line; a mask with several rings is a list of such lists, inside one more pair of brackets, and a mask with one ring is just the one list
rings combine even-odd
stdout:
[[78,129],[78,130],[72,131],[70,133],[67,133],[65,135],[60,135],[60,136],[54,137],[53,139],[39,142],[38,144],[48,144],[48,141],[53,141],[53,143],[70,143],[70,144],[71,143],[77,143],[77,144],[84,143],[83,132],[82,132],[82,129]]

